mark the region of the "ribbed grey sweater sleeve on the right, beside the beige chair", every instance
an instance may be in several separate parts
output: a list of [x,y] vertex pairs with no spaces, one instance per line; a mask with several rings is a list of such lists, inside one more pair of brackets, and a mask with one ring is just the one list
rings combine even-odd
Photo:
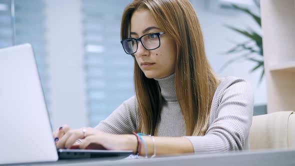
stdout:
[[204,136],[185,136],[195,153],[242,150],[253,114],[253,91],[244,79],[226,77],[215,91]]

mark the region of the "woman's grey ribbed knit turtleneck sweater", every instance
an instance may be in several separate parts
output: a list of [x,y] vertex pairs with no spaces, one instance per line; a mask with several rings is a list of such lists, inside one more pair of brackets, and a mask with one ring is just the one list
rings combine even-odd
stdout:
[[[157,136],[184,136],[190,140],[195,153],[248,149],[248,132],[253,114],[253,92],[244,79],[228,76],[221,80],[211,104],[209,125],[204,136],[186,136],[185,123],[176,98],[175,75],[158,81],[164,104]],[[131,134],[138,125],[136,97],[118,106],[97,129],[114,134]]]

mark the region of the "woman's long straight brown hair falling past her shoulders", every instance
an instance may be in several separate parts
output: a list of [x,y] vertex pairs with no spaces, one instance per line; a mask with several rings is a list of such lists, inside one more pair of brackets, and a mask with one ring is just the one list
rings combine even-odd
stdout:
[[[176,45],[175,89],[186,135],[204,135],[218,81],[205,56],[203,36],[188,0],[134,0],[124,9],[121,39],[129,37],[133,12],[147,9]],[[135,95],[140,112],[138,131],[155,134],[162,109],[160,87],[147,78],[134,58]]]

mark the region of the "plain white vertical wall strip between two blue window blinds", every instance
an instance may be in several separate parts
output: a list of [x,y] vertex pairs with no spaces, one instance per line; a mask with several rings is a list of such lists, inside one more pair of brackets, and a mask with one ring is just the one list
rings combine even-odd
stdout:
[[80,0],[45,0],[52,127],[87,125]]

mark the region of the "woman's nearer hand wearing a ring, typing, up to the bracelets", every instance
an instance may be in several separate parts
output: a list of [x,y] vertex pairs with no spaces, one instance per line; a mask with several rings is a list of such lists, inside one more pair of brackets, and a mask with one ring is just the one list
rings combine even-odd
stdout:
[[[74,144],[77,139],[83,139],[80,144]],[[79,128],[68,130],[56,141],[58,148],[108,149],[136,151],[135,135],[118,135],[98,131],[95,128]]]

